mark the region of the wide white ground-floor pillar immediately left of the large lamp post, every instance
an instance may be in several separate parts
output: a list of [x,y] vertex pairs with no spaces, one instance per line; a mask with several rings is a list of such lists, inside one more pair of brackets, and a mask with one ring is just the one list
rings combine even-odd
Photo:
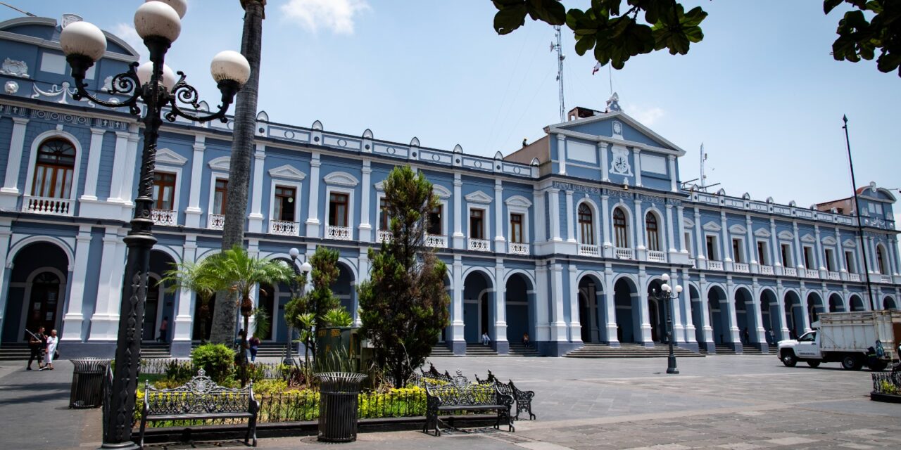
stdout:
[[100,281],[97,301],[91,316],[89,340],[115,340],[119,330],[119,308],[125,266],[125,245],[116,229],[108,228],[103,238],[100,260]]

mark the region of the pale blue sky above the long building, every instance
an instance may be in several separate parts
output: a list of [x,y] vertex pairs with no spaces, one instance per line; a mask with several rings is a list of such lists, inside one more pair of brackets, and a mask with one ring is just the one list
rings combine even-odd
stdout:
[[[146,55],[132,25],[140,0],[5,3],[56,19],[79,14]],[[683,4],[709,13],[702,42],[685,56],[639,55],[612,71],[623,111],[686,150],[683,181],[697,178],[703,143],[714,189],[805,207],[847,197],[847,114],[858,185],[901,188],[901,77],[879,72],[875,61],[832,58],[841,7],[827,16],[812,0]],[[415,136],[424,147],[509,154],[560,121],[554,31],[527,19],[499,36],[495,13],[477,0],[268,0],[259,109],[292,125],[319,120],[351,135],[370,129],[377,139]],[[0,20],[21,15],[0,6]],[[240,49],[242,17],[239,0],[189,0],[169,49],[168,65],[209,103],[217,100],[209,61]],[[564,27],[566,109],[603,110],[611,71],[593,76],[596,61],[573,44]]]

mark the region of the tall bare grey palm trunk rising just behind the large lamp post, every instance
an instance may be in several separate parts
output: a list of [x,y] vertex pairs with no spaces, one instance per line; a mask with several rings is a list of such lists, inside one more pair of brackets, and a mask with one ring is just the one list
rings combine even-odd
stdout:
[[[250,63],[250,78],[238,92],[232,133],[232,157],[229,162],[228,197],[225,202],[223,250],[244,244],[244,221],[250,189],[250,163],[253,157],[254,129],[257,126],[259,58],[262,47],[263,13],[266,0],[241,0],[244,7],[244,31],[241,54]],[[230,345],[237,332],[238,302],[233,293],[217,293],[213,309],[210,341]]]

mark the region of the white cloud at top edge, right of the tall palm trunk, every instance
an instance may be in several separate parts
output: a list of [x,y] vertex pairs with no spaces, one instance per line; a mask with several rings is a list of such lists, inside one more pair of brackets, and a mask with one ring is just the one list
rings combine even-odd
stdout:
[[354,16],[369,9],[366,0],[289,0],[281,6],[286,18],[306,31],[336,34],[353,34]]

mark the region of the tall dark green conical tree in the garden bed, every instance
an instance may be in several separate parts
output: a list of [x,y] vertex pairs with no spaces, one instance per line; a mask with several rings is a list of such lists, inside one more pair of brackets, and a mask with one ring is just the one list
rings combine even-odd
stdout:
[[369,281],[358,286],[361,333],[378,366],[404,387],[423,365],[448,325],[447,267],[423,246],[425,220],[437,206],[432,184],[410,167],[396,167],[384,182],[392,238],[369,249]]

